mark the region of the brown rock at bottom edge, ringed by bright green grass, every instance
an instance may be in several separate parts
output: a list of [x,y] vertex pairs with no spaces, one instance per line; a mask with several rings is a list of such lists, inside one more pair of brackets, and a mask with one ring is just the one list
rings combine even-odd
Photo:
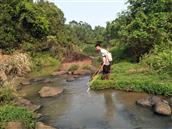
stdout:
[[26,129],[22,122],[8,122],[5,129]]

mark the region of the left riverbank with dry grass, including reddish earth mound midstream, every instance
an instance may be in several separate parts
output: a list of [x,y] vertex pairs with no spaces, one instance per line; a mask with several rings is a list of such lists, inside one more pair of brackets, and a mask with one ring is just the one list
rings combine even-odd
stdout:
[[[1,71],[0,129],[11,126],[11,124],[19,124],[20,127],[24,126],[25,128],[36,127],[40,115],[37,111],[41,105],[25,99],[25,95],[19,93],[23,87],[31,85],[33,82],[48,84],[64,74],[65,80],[74,81],[81,75],[90,74],[93,69],[91,59],[79,54],[72,55],[72,58],[66,57],[63,63],[46,53],[37,53],[33,57],[24,53],[18,53],[17,56],[1,55],[1,59],[1,63],[5,66]],[[54,80],[48,76],[53,77]]]

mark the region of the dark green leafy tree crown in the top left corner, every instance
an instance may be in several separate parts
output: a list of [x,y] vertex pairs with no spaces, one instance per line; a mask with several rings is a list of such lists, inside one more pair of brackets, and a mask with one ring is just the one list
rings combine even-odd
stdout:
[[18,48],[32,37],[43,38],[49,25],[40,8],[27,0],[4,0],[0,4],[0,48]]

